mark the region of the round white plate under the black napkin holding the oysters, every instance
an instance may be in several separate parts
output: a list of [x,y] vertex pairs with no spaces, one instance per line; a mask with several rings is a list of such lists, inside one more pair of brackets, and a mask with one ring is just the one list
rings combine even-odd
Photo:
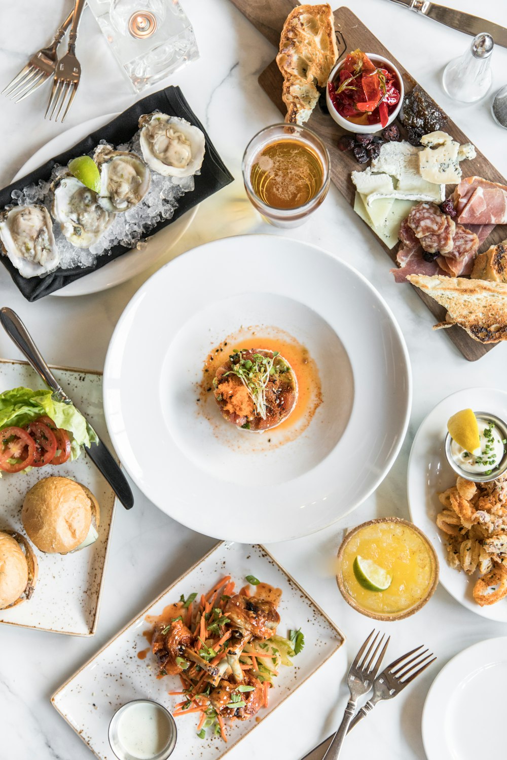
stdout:
[[[105,124],[109,124],[112,119],[118,116],[117,113],[109,113],[105,116],[96,116],[95,119],[90,119],[87,122],[82,122],[74,127],[71,127],[61,135],[56,135],[55,138],[50,140],[46,145],[43,145],[36,153],[33,154],[27,160],[24,166],[14,177],[12,182],[17,179],[33,172],[33,169],[37,169],[38,166],[42,166],[53,156],[58,156],[64,153],[65,150],[69,150],[73,145],[77,144],[90,132],[100,129]],[[191,208],[186,214],[182,214],[175,222],[166,226],[163,230],[153,237],[147,239],[146,248],[143,251],[136,249],[128,251],[127,253],[119,256],[118,258],[109,261],[109,264],[104,264],[103,267],[97,269],[90,274],[86,274],[79,280],[68,283],[61,290],[56,290],[55,293],[51,293],[52,296],[87,296],[89,293],[98,293],[100,290],[107,290],[109,287],[124,283],[126,280],[131,280],[132,277],[144,272],[145,269],[155,264],[164,254],[173,248],[173,245],[179,241],[179,239],[185,234],[195,219],[198,206]]]

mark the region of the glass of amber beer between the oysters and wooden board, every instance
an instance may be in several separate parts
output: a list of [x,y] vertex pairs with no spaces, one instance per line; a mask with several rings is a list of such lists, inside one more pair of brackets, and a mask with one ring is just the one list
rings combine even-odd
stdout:
[[246,194],[265,220],[296,227],[328,193],[329,154],[311,129],[274,124],[247,145],[242,173]]

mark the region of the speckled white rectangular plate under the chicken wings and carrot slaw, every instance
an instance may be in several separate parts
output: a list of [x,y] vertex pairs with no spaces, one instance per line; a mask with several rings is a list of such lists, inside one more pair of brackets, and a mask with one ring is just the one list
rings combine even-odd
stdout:
[[[112,715],[125,702],[150,698],[172,709],[181,701],[181,697],[167,695],[167,692],[181,690],[179,678],[168,676],[157,679],[157,667],[150,651],[144,660],[137,657],[139,651],[147,648],[143,631],[150,626],[145,621],[145,616],[160,615],[163,608],[178,601],[181,594],[187,597],[193,591],[206,593],[226,574],[232,576],[238,588],[246,582],[246,575],[255,575],[260,581],[280,587],[282,599],[278,607],[281,618],[278,633],[287,635],[289,629],[301,628],[305,635],[305,647],[294,657],[294,667],[280,668],[274,689],[270,689],[268,708],[263,708],[258,713],[261,720],[271,714],[344,643],[341,631],[263,546],[218,543],[52,695],[52,705],[97,757],[115,760],[109,747],[107,731]],[[228,743],[225,744],[220,737],[211,737],[209,730],[206,739],[199,739],[195,714],[176,720],[178,743],[171,760],[188,760],[193,757],[217,760],[256,725],[255,719],[236,720],[232,727],[227,726]],[[265,756],[268,757],[269,753]]]

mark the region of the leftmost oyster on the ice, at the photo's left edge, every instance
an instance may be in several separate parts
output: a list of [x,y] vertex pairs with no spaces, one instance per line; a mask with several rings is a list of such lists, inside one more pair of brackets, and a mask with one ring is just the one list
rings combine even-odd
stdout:
[[60,263],[52,220],[44,206],[12,206],[0,213],[2,252],[22,277],[40,277]]

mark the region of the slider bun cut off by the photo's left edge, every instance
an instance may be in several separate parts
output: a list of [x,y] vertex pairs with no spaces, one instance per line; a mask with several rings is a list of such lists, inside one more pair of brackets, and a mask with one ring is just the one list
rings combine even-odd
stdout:
[[15,530],[0,530],[0,610],[30,599],[37,571],[37,560],[26,538]]

